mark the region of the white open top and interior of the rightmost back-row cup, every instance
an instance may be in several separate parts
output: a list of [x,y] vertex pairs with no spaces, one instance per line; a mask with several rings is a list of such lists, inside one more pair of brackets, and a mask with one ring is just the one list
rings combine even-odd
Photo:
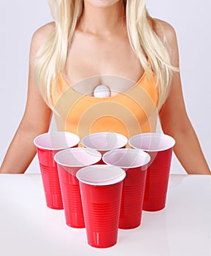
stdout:
[[144,151],[164,151],[172,148],[175,144],[174,138],[169,135],[158,133],[142,133],[134,135],[128,140],[132,148],[140,148]]

